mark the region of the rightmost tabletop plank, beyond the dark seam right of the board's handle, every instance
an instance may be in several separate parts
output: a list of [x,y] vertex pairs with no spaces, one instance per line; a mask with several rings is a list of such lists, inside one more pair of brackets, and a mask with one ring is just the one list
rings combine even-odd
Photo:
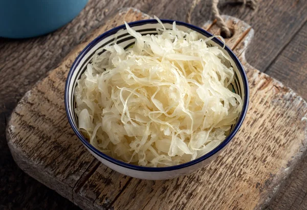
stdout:
[[[297,90],[307,99],[307,24],[270,66],[267,73]],[[286,71],[281,71],[286,69]],[[291,78],[291,80],[289,80]],[[291,82],[292,81],[292,82]],[[287,181],[287,190],[282,191],[271,205],[273,210],[307,209],[307,157]]]

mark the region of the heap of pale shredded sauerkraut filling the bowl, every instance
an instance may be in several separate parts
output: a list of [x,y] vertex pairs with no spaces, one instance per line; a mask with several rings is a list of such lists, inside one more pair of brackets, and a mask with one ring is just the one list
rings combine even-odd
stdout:
[[[78,126],[98,150],[122,161],[165,167],[194,160],[224,141],[242,111],[234,71],[211,38],[173,22],[126,50],[97,50],[75,89]],[[106,52],[102,54],[103,50]]]

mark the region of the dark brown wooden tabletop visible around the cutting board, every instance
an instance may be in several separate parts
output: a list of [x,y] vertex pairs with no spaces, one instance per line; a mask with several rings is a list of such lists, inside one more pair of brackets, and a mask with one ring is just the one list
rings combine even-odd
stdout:
[[[220,2],[222,14],[240,18],[255,30],[247,61],[307,100],[306,0],[259,0],[256,11]],[[51,34],[23,40],[1,38],[0,209],[78,209],[15,165],[5,127],[25,92],[46,77],[87,33],[123,7],[135,7],[160,18],[190,21],[193,25],[202,25],[211,18],[210,0],[91,0],[72,22]],[[307,209],[307,157],[287,180],[270,209]]]

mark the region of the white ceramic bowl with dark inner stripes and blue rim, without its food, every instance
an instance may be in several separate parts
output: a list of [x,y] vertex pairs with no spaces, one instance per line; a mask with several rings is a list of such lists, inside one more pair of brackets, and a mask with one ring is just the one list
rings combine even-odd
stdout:
[[[164,26],[167,29],[172,29],[173,20],[161,20]],[[186,24],[185,22],[176,21],[177,28],[183,31],[193,30],[200,34],[200,37],[206,38],[212,36],[212,34],[207,31],[192,26],[190,24]],[[160,28],[161,25],[155,19],[150,20],[140,20],[136,22],[130,22],[129,26],[139,33],[145,34],[157,34],[156,28]],[[119,30],[121,30],[119,32]],[[117,35],[117,39],[115,39],[115,34]],[[106,154],[100,152],[96,148],[94,148],[82,135],[82,133],[78,130],[77,125],[77,116],[75,114],[75,100],[74,100],[74,90],[76,87],[76,81],[80,78],[83,72],[86,69],[86,64],[91,62],[93,58],[94,52],[106,44],[117,43],[124,48],[127,48],[131,44],[134,44],[135,38],[130,36],[124,25],[116,27],[112,30],[109,30],[96,39],[94,39],[91,43],[89,43],[85,49],[79,54],[73,63],[70,72],[68,74],[68,78],[65,85],[65,109],[67,112],[68,120],[70,125],[72,126],[74,132],[79,137],[82,144],[89,150],[98,160],[100,160],[107,167],[125,174],[127,176],[141,178],[141,179],[170,179],[174,177],[178,177],[181,175],[189,174],[193,171],[200,169],[201,167],[208,164],[212,159],[214,159],[219,153],[225,149],[226,145],[231,141],[234,135],[239,130],[240,126],[243,123],[245,118],[247,108],[248,108],[248,99],[249,99],[249,88],[246,74],[244,72],[243,66],[238,60],[238,58],[234,55],[234,53],[227,47],[223,49],[224,43],[217,39],[213,38],[211,41],[207,42],[213,46],[218,46],[223,52],[228,55],[231,60],[231,65],[233,66],[235,72],[235,81],[233,83],[234,91],[242,97],[243,100],[243,110],[240,113],[236,124],[232,127],[230,134],[226,137],[226,139],[215,149],[205,154],[204,156],[186,162],[185,164],[171,166],[171,167],[160,167],[160,168],[152,168],[152,167],[141,167],[135,166],[131,164],[127,164],[126,162],[114,159]]]

